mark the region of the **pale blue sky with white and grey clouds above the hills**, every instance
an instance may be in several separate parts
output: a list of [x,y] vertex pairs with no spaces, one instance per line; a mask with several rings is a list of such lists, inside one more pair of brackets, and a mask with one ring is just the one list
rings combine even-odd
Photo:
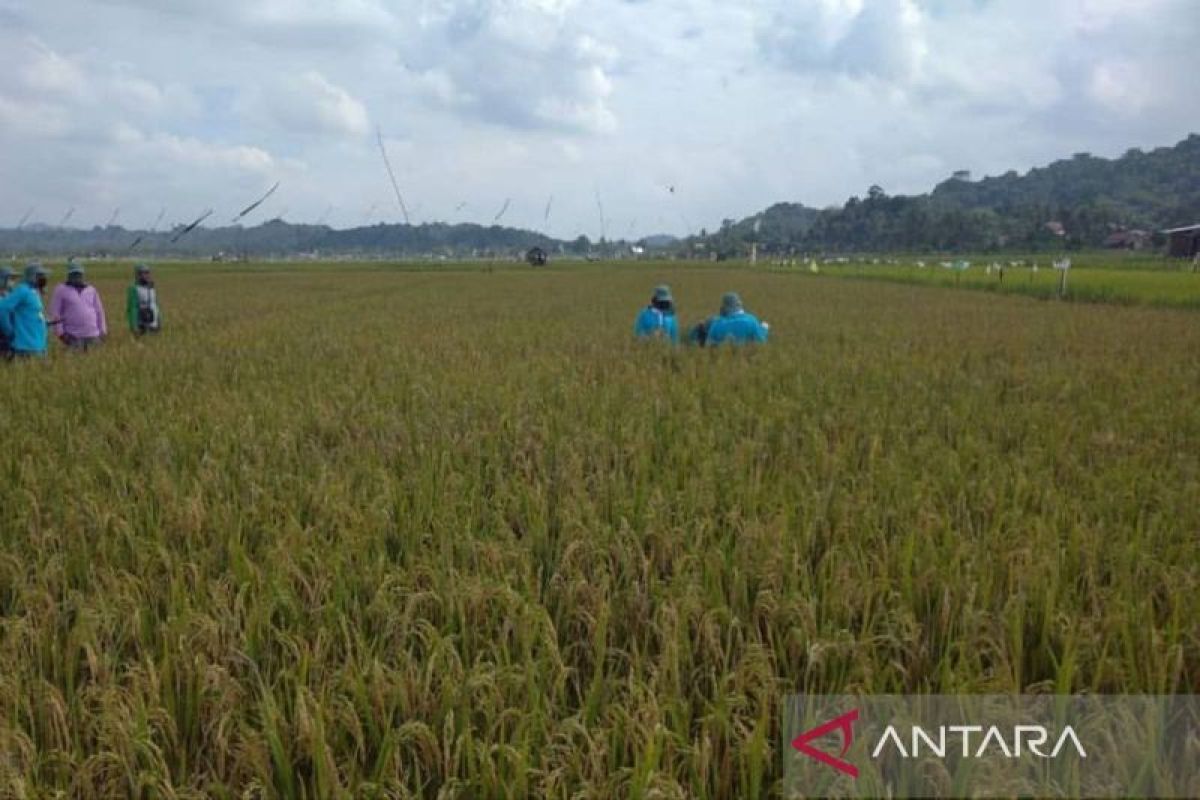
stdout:
[[695,231],[1174,144],[1198,32],[1198,0],[0,0],[0,225],[227,223],[275,181],[247,223],[396,222],[380,130],[414,223]]

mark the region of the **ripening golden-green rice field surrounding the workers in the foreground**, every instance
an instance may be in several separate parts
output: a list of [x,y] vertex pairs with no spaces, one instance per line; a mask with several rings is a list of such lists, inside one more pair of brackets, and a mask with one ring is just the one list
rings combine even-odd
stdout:
[[[631,342],[662,281],[772,343]],[[161,338],[2,372],[0,795],[768,796],[790,692],[1200,690],[1194,314],[160,284]]]

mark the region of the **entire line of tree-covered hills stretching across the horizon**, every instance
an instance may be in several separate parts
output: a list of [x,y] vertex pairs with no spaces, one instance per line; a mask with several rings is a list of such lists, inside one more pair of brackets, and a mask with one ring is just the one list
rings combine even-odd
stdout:
[[[1120,231],[1157,231],[1200,222],[1200,134],[1171,148],[1129,150],[1120,158],[1076,154],[1024,175],[971,180],[955,173],[926,194],[889,196],[872,186],[842,206],[776,203],[719,230],[678,240],[640,240],[660,254],[743,258],[812,252],[964,252],[1069,249],[1100,246]],[[468,258],[520,257],[532,247],[551,254],[611,255],[628,243],[584,236],[559,240],[518,228],[479,224],[376,224],[346,230],[271,219],[242,228],[169,231],[90,230],[41,223],[0,229],[0,257],[79,254],[118,258]],[[1141,241],[1142,237],[1130,237]],[[132,247],[138,241],[137,247]]]

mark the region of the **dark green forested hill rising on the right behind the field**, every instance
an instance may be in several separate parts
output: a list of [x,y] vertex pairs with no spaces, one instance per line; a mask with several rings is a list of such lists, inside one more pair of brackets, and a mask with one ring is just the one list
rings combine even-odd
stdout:
[[[1051,249],[1200,222],[1200,136],[1115,160],[1076,154],[1025,175],[956,173],[929,194],[872,186],[838,209],[781,204],[706,237],[722,257],[812,251]],[[757,224],[758,230],[755,231]]]

